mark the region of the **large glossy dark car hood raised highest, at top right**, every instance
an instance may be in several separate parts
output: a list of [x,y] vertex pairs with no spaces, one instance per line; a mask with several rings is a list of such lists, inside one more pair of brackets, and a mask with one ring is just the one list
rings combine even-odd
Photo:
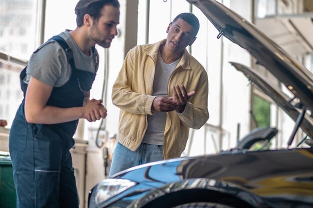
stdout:
[[[310,111],[313,110],[313,74],[295,61],[253,24],[215,0],[187,0],[198,7],[225,36],[249,51]],[[219,35],[219,36],[220,36]]]

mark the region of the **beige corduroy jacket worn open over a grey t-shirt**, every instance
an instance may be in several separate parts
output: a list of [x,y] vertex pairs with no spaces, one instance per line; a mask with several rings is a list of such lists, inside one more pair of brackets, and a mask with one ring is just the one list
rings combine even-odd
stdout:
[[[146,115],[153,114],[154,69],[159,46],[165,41],[130,49],[113,85],[112,102],[120,108],[117,141],[131,151],[135,151],[143,140],[147,128]],[[181,84],[187,92],[195,91],[195,94],[188,100],[182,113],[167,112],[164,159],[180,157],[187,143],[189,128],[199,129],[209,116],[207,73],[186,49],[169,78],[168,96],[172,96],[171,86]]]

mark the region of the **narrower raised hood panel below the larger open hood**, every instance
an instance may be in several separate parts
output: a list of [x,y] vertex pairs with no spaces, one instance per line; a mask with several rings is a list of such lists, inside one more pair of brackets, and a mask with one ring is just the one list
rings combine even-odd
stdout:
[[[300,112],[289,104],[290,98],[275,84],[269,81],[265,76],[255,69],[244,66],[240,63],[230,62],[238,71],[241,71],[249,80],[258,86],[266,95],[268,95],[279,107],[281,107],[293,120],[296,121]],[[301,129],[313,138],[313,118],[305,115],[300,125]]]

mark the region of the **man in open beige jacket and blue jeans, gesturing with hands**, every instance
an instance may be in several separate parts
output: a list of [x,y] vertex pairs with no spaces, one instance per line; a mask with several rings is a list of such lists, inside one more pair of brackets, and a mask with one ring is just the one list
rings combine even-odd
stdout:
[[112,89],[120,114],[110,177],[180,157],[189,128],[199,129],[207,121],[207,73],[185,49],[198,29],[192,13],[180,13],[169,23],[166,39],[138,45],[126,55]]

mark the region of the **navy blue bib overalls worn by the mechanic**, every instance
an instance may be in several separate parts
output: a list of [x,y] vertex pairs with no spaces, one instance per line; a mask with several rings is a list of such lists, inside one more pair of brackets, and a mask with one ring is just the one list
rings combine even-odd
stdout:
[[[65,49],[72,71],[70,79],[63,86],[53,88],[46,105],[80,107],[83,105],[84,91],[91,89],[95,73],[76,69],[67,43],[60,36],[51,39]],[[92,51],[96,60],[95,49],[92,48]],[[20,73],[24,97],[27,89],[27,84],[23,82],[25,75],[24,69]],[[17,208],[78,208],[69,152],[74,145],[72,136],[78,120],[53,125],[27,123],[24,100],[16,112],[9,135]]]

